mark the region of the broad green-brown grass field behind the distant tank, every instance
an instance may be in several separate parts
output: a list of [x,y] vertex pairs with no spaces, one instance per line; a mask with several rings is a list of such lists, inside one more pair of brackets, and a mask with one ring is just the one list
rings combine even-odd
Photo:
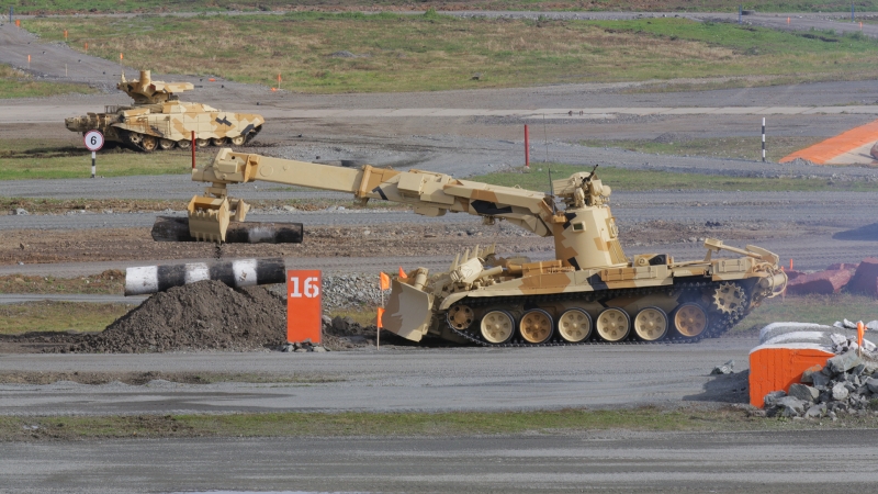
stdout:
[[[529,21],[427,13],[34,19],[47,42],[158,72],[304,92],[393,92],[708,77],[878,77],[878,41],[683,19]],[[169,57],[167,54],[173,53]],[[479,80],[474,75],[480,75]]]

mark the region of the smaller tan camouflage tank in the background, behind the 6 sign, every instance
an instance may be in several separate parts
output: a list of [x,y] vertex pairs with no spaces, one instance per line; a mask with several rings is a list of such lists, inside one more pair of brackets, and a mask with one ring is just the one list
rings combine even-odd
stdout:
[[72,132],[101,131],[108,143],[142,151],[189,148],[192,132],[195,145],[204,147],[240,146],[262,130],[264,119],[252,113],[232,113],[203,103],[184,103],[177,93],[194,89],[189,82],[151,80],[149,70],[140,70],[137,80],[116,86],[133,100],[130,106],[105,106],[103,113],[74,116],[64,122]]

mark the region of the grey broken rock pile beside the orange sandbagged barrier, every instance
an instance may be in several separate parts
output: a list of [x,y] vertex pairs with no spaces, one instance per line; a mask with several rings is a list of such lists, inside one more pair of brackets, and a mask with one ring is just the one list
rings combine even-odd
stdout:
[[815,366],[802,374],[802,383],[790,385],[789,393],[774,391],[765,396],[766,416],[822,418],[838,415],[878,415],[878,351],[863,340],[859,350],[853,337],[831,335],[836,355],[826,366]]

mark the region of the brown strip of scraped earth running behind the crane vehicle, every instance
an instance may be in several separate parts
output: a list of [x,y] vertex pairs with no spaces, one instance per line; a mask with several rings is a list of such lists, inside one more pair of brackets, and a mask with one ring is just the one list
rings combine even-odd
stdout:
[[[384,224],[363,226],[305,225],[302,244],[226,244],[216,248],[204,243],[153,242],[148,228],[106,228],[100,235],[91,231],[37,229],[7,231],[0,237],[0,265],[23,262],[78,262],[136,259],[198,259],[246,257],[410,257],[448,256],[475,245],[497,244],[500,255],[552,252],[552,238],[543,238],[514,225],[481,225],[472,218],[462,223]],[[622,245],[662,246],[672,243],[697,243],[707,237],[746,240],[758,244],[764,238],[798,237],[804,233],[834,231],[795,223],[762,222],[672,222],[651,221],[626,225],[620,232]],[[694,240],[690,240],[694,239]],[[657,248],[657,247],[656,247]]]

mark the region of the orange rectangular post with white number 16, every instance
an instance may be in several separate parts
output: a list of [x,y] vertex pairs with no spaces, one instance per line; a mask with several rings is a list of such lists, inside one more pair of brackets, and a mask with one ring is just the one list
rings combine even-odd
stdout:
[[319,345],[323,327],[323,277],[319,270],[286,271],[286,341]]

